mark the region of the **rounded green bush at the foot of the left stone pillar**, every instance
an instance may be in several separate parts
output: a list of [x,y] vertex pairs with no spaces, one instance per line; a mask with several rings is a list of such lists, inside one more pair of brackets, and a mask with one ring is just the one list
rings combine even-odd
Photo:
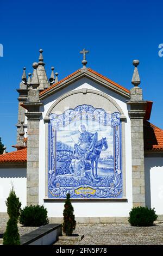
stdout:
[[43,205],[30,205],[21,210],[19,221],[26,227],[40,227],[48,224],[47,210]]

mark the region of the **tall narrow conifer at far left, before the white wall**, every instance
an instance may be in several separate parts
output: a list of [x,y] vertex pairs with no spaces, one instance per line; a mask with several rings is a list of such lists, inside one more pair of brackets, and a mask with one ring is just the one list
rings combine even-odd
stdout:
[[17,219],[20,215],[21,203],[16,197],[14,187],[12,187],[6,202],[8,208],[9,221],[3,235],[3,245],[20,245],[20,235],[17,228]]

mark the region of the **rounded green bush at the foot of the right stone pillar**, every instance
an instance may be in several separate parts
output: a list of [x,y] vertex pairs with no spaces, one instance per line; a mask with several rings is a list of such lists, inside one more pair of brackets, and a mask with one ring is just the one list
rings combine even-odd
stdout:
[[148,209],[147,207],[134,207],[129,212],[129,223],[137,227],[148,227],[153,225],[153,222],[158,216],[155,214],[154,209]]

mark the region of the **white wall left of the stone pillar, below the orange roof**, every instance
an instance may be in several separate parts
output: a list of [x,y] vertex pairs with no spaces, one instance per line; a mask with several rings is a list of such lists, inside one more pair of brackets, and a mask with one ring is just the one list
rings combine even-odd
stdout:
[[22,203],[27,203],[27,171],[25,168],[0,168],[0,212],[7,212],[5,200],[8,198],[12,185],[16,196]]

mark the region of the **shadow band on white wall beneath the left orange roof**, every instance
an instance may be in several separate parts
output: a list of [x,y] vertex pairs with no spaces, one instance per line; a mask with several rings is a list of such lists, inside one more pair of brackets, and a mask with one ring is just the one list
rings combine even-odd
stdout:
[[0,169],[0,178],[27,178],[27,169]]

